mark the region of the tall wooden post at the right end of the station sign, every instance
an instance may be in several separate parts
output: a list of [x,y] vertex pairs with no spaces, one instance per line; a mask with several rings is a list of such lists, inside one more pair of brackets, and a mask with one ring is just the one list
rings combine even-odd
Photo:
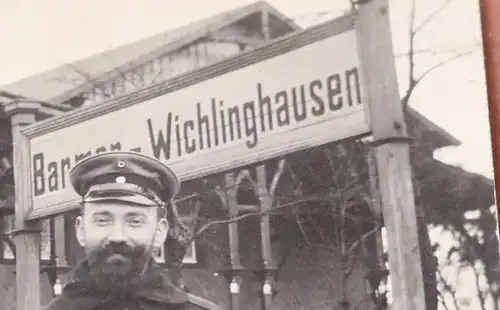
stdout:
[[359,51],[389,247],[392,307],[425,310],[409,139],[397,87],[388,0],[363,1],[358,12]]

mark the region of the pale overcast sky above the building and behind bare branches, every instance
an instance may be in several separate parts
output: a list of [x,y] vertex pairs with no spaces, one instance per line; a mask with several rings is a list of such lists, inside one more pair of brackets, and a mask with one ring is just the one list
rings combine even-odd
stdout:
[[[248,0],[0,0],[0,85],[253,1]],[[301,24],[341,14],[347,0],[270,0]],[[395,54],[407,51],[409,0],[391,1]],[[422,21],[443,0],[418,0]],[[419,50],[467,50],[480,44],[478,1],[454,0],[418,36]],[[420,72],[436,57],[422,54]],[[407,75],[398,57],[400,88]],[[431,75],[411,105],[463,142],[438,158],[493,176],[482,50]]]

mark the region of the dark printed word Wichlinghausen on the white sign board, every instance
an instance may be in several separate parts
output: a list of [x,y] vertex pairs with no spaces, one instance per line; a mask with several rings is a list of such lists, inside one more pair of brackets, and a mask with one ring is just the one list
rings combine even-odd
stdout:
[[359,73],[353,68],[273,94],[257,84],[254,100],[227,107],[212,98],[209,105],[198,102],[187,119],[168,112],[164,131],[155,129],[151,119],[147,126],[154,156],[169,160],[241,139],[252,149],[261,133],[358,104]]

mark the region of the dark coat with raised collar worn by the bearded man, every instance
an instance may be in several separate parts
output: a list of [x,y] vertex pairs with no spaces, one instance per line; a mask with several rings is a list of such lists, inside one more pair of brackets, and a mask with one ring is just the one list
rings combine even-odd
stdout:
[[128,292],[109,293],[89,283],[82,261],[60,296],[42,310],[223,310],[218,305],[176,288],[165,269],[152,263],[140,283]]

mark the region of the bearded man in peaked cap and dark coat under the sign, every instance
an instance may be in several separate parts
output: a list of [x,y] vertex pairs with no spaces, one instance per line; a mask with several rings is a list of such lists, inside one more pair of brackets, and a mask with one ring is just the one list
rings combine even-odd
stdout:
[[82,197],[75,229],[86,257],[42,310],[221,309],[183,291],[153,259],[177,223],[180,184],[167,166],[139,153],[101,153],[75,165],[70,180]]

